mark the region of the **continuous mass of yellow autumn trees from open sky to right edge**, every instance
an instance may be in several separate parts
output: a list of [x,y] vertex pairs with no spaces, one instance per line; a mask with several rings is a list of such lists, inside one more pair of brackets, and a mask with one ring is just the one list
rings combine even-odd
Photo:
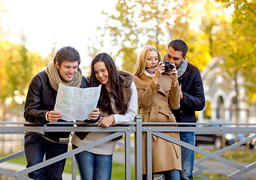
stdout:
[[[133,73],[143,46],[154,46],[164,55],[168,43],[180,38],[189,47],[189,62],[202,71],[212,57],[220,57],[222,75],[236,89],[236,98],[238,87],[245,86],[249,100],[256,101],[255,5],[255,0],[119,0],[115,12],[102,12],[105,26],[98,27],[96,41],[104,46],[108,36],[111,55]],[[94,49],[93,55],[99,51]],[[239,84],[239,75],[245,83]]]

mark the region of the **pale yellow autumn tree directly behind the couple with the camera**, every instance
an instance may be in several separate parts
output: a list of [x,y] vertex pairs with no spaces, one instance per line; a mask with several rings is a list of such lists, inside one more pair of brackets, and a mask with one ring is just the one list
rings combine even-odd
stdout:
[[[188,44],[188,60],[202,70],[211,55],[204,32],[191,28],[194,17],[200,16],[194,10],[198,4],[200,1],[119,0],[115,12],[103,12],[106,23],[98,30],[102,38],[111,39],[111,50],[121,59],[126,71],[133,72],[143,46],[155,46],[164,55],[169,41],[174,38],[181,38]],[[100,40],[100,44],[105,45],[104,42]],[[98,52],[99,49],[91,51]]]

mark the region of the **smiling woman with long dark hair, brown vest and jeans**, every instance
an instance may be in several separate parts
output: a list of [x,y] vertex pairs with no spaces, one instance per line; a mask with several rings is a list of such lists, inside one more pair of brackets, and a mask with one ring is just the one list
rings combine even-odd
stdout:
[[[107,53],[99,53],[93,58],[90,87],[102,85],[98,108],[100,116],[98,126],[109,127],[134,120],[138,108],[138,96],[133,76],[125,71],[117,71],[113,59]],[[72,137],[73,148],[108,136],[111,133],[90,132],[75,133]],[[110,180],[112,156],[116,140],[104,142],[75,155],[82,179]]]

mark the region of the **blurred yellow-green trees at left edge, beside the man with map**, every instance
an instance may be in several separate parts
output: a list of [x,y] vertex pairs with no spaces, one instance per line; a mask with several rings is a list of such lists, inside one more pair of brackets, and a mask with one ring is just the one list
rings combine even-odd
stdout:
[[[47,59],[26,49],[26,37],[20,34],[20,43],[8,40],[11,31],[2,28],[1,17],[7,13],[0,1],[0,119],[8,120],[6,113],[20,113],[32,77],[47,65]],[[21,115],[22,118],[23,115]]]

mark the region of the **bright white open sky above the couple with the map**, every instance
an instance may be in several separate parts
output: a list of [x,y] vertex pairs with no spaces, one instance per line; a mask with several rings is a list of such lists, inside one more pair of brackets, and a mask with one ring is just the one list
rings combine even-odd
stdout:
[[[7,13],[2,26],[9,29],[11,41],[20,42],[23,31],[26,47],[46,56],[56,43],[73,46],[81,55],[81,66],[90,65],[87,56],[88,37],[95,36],[97,26],[105,19],[102,10],[114,10],[115,0],[0,0]],[[106,49],[105,52],[108,52]]]

